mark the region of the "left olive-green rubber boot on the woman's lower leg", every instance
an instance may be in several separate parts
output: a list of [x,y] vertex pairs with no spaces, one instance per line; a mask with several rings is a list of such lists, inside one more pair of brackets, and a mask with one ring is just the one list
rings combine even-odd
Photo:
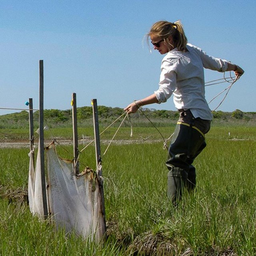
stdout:
[[181,199],[188,173],[178,167],[173,167],[168,172],[167,196],[176,205]]

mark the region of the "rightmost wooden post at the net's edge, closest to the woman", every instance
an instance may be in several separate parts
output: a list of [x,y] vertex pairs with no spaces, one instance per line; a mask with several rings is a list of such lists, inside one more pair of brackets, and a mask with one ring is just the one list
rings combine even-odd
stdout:
[[[98,168],[101,164],[100,156],[100,130],[99,130],[99,121],[98,121],[98,106],[97,100],[92,100],[92,112],[93,112],[93,124],[94,124],[94,139],[95,139],[95,153],[96,153],[96,166]],[[98,176],[102,177],[102,170],[98,172]],[[104,234],[106,233],[106,216],[105,216],[105,203],[104,203],[104,190],[103,190],[103,181],[102,178],[99,179],[100,182],[100,193],[102,198],[102,214],[104,218]]]

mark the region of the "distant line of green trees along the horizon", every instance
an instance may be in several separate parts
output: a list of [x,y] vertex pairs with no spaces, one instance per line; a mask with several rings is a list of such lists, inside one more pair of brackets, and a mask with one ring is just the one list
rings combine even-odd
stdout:
[[[179,112],[173,110],[156,110],[152,108],[142,108],[143,112],[148,118],[152,120],[158,120],[160,122],[166,120],[176,120]],[[122,108],[112,108],[107,106],[98,106],[98,116],[101,120],[115,120],[124,113]],[[39,112],[34,112],[34,120],[37,122]],[[145,116],[138,111],[132,115],[132,118],[142,120]],[[214,111],[214,119],[218,120],[256,120],[256,112],[242,112],[239,109],[233,112]],[[0,116],[0,128],[21,128],[28,126],[28,111],[23,110],[18,113],[6,114]],[[58,109],[46,109],[44,110],[44,119],[49,124],[72,124],[72,109],[58,110]],[[84,123],[86,120],[92,120],[92,107],[84,106],[77,108],[77,120],[78,123]]]

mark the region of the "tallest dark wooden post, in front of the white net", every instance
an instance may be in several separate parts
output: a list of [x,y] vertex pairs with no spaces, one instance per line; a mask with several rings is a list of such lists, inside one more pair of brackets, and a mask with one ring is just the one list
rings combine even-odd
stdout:
[[39,150],[44,219],[48,217],[44,168],[44,61],[39,61]]

